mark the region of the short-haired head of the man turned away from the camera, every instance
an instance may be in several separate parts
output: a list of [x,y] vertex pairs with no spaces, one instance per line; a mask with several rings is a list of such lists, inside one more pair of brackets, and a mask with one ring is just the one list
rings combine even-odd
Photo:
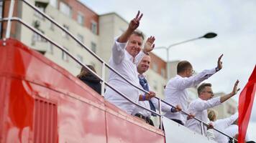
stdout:
[[181,77],[191,77],[195,71],[189,61],[180,61],[177,66],[177,74]]

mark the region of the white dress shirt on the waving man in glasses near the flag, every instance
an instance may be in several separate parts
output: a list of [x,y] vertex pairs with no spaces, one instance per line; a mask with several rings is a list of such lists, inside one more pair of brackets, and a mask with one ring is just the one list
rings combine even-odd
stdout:
[[[215,97],[209,100],[203,100],[201,98],[193,100],[193,102],[191,102],[191,104],[188,106],[188,113],[192,113],[197,119],[201,119],[202,122],[208,123],[209,119],[207,109],[216,107],[221,104],[220,99],[221,97]],[[198,134],[201,134],[201,122],[198,122],[196,119],[188,119],[186,122],[186,127],[195,132],[198,132]],[[207,127],[204,126],[204,134],[206,134],[206,130]]]

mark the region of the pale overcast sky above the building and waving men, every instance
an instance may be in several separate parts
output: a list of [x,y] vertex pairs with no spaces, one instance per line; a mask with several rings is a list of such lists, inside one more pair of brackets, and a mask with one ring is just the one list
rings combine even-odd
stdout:
[[[127,21],[133,19],[138,10],[142,11],[139,29],[146,36],[155,36],[156,46],[169,46],[214,31],[218,34],[214,39],[199,39],[170,49],[170,60],[191,61],[196,71],[215,67],[219,55],[224,54],[223,69],[206,81],[213,84],[214,92],[231,92],[237,79],[243,89],[255,67],[255,0],[81,1],[97,14],[116,12]],[[165,51],[154,51],[166,59]],[[238,97],[239,93],[234,98]],[[256,141],[256,105],[248,132]]]

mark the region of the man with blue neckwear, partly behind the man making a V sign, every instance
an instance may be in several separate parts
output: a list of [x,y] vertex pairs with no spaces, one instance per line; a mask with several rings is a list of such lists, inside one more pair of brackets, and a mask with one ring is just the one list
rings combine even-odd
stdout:
[[[140,61],[140,63],[137,66],[137,71],[139,73],[138,77],[140,79],[140,85],[143,89],[145,89],[146,91],[150,91],[150,86],[147,83],[147,79],[145,77],[145,72],[147,71],[147,69],[149,69],[150,67],[150,55],[145,55],[142,60]],[[147,109],[151,109],[152,111],[155,111],[155,109],[159,110],[159,105],[158,105],[158,99],[156,99],[155,97],[152,97],[150,100],[148,101],[140,101],[139,104],[142,107],[145,107]],[[177,106],[177,109],[170,107],[169,105],[165,104],[162,102],[161,104],[161,109],[163,112],[178,112],[180,111],[180,106]],[[136,117],[140,117],[141,119],[145,119],[145,121],[149,124],[151,124],[152,126],[154,126],[152,120],[150,119],[150,116],[154,116],[154,114],[152,114],[151,112],[148,112],[145,109],[142,109],[140,107],[136,107],[134,109],[134,112],[132,113],[134,116]]]

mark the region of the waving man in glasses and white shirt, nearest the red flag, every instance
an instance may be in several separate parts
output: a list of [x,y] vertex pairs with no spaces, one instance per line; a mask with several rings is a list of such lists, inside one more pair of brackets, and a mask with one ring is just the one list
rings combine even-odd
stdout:
[[[214,97],[214,93],[211,89],[211,84],[204,83],[201,84],[198,89],[198,99],[195,99],[189,104],[188,106],[188,112],[195,115],[197,119],[200,119],[202,122],[209,122],[208,115],[207,115],[207,109],[210,109],[212,107],[216,107],[219,104],[227,101],[227,99],[233,97],[235,94],[237,94],[237,84],[239,81],[235,82],[233,90],[230,94],[224,95],[222,97]],[[233,121],[234,122],[234,121]],[[203,127],[203,131],[201,132],[201,122],[198,122],[196,119],[188,119],[186,122],[186,127],[189,129],[198,132],[198,134],[206,134],[207,127]]]

